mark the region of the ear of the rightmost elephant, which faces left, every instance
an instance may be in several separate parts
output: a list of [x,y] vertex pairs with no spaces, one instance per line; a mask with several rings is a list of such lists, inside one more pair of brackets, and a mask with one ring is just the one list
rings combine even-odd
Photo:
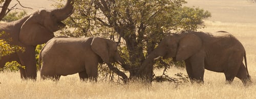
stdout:
[[202,47],[202,41],[194,34],[186,34],[181,37],[176,54],[176,60],[181,61],[195,54]]

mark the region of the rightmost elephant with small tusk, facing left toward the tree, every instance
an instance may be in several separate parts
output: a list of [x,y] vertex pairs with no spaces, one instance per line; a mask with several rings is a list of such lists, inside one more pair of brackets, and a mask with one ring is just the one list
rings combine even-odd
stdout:
[[143,66],[157,57],[172,57],[176,61],[185,61],[186,71],[191,82],[203,82],[204,69],[224,73],[226,80],[234,77],[243,84],[250,81],[247,66],[243,63],[246,54],[243,45],[226,31],[213,34],[204,32],[183,32],[170,34],[163,38],[159,46],[148,55]]

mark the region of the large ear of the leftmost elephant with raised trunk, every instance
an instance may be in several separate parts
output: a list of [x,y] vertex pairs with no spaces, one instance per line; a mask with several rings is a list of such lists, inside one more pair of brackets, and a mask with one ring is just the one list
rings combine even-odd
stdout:
[[43,18],[39,14],[32,14],[23,23],[19,31],[19,41],[25,45],[39,45],[54,37],[53,32],[43,25]]

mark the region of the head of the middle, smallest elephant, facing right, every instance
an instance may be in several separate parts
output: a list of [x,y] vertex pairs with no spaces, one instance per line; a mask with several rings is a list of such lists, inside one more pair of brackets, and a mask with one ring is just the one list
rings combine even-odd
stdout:
[[95,37],[91,43],[92,50],[98,54],[105,63],[117,62],[124,65],[125,62],[121,58],[114,41]]

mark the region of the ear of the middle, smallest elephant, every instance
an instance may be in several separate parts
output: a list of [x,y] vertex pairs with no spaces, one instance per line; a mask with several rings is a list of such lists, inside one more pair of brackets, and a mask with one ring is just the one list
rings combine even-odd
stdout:
[[98,54],[105,63],[110,63],[109,46],[105,39],[94,37],[91,47],[92,50]]

